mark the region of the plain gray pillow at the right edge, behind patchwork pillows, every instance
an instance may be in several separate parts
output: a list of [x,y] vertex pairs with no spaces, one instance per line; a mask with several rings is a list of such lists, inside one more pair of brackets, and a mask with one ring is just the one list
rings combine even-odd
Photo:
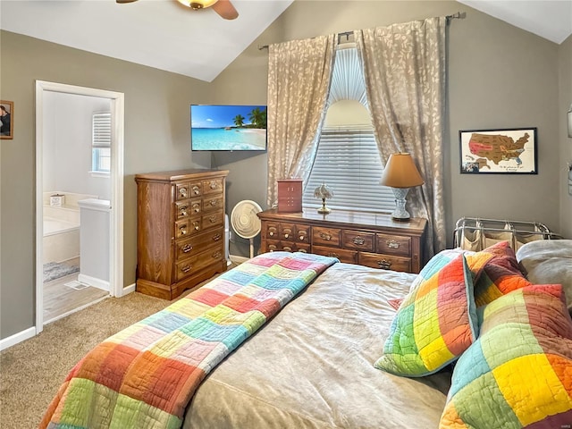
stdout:
[[559,283],[572,314],[572,240],[536,240],[517,250],[517,261],[534,284]]

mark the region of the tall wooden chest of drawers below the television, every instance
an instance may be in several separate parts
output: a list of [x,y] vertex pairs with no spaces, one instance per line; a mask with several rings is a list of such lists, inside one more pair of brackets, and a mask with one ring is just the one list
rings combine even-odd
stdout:
[[139,292],[174,299],[226,270],[227,174],[197,169],[135,175]]

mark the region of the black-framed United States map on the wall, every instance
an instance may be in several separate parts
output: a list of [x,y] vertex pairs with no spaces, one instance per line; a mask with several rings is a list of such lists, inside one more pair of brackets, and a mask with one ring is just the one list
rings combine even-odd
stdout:
[[538,174],[536,128],[460,130],[462,174]]

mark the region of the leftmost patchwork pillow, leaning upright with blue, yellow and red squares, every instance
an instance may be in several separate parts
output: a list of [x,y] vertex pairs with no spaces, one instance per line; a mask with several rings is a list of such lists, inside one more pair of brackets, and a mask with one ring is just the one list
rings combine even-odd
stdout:
[[476,338],[473,282],[491,257],[448,251],[433,257],[401,303],[383,356],[374,366],[420,377],[439,371],[465,351]]

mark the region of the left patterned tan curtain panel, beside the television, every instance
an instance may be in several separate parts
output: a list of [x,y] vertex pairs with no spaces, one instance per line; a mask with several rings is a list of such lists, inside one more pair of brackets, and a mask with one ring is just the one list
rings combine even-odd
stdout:
[[268,46],[268,192],[279,179],[307,183],[330,89],[335,35]]

